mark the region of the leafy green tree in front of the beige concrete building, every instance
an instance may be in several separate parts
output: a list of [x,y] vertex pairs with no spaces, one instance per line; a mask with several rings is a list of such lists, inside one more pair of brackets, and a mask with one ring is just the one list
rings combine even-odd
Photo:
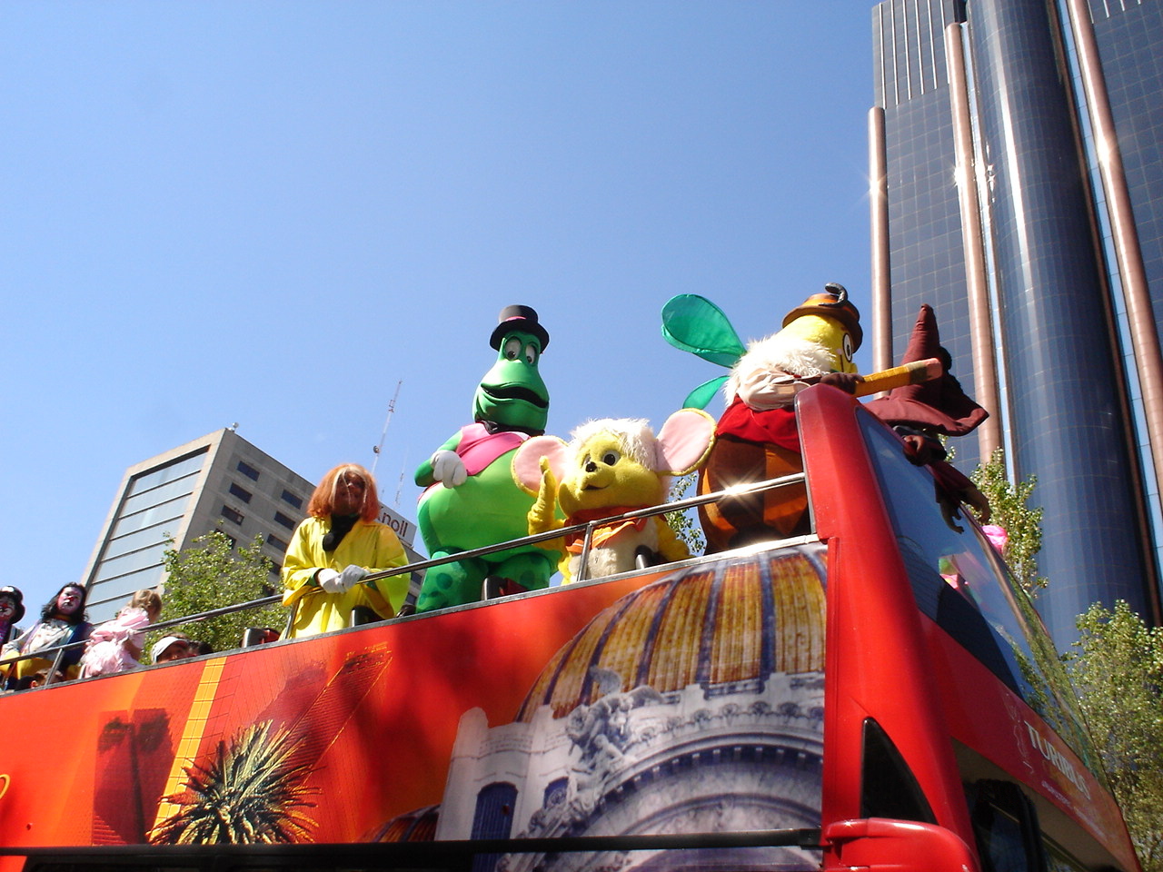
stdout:
[[[173,541],[170,541],[173,544]],[[273,564],[263,556],[263,538],[256,536],[249,545],[234,546],[221,530],[212,530],[195,538],[180,551],[172,546],[165,552],[165,581],[163,621],[209,612],[223,606],[249,602],[273,593],[271,570]],[[199,642],[207,642],[215,651],[237,648],[248,627],[281,629],[286,612],[270,606],[263,609],[235,612],[171,628],[186,632]],[[164,635],[150,634],[149,644]]]

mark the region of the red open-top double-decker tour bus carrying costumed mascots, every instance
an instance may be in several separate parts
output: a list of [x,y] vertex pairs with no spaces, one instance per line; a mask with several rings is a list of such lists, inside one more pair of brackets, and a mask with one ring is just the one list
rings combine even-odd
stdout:
[[0,863],[1136,872],[980,530],[798,415],[811,535],[0,699]]

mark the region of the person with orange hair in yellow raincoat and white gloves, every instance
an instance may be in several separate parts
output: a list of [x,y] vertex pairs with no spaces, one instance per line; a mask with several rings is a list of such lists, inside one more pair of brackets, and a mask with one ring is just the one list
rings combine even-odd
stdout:
[[283,562],[283,605],[294,608],[287,638],[340,630],[351,610],[392,617],[408,592],[407,576],[363,579],[407,563],[392,528],[376,520],[379,496],[371,473],[341,464],[323,477],[307,503]]

